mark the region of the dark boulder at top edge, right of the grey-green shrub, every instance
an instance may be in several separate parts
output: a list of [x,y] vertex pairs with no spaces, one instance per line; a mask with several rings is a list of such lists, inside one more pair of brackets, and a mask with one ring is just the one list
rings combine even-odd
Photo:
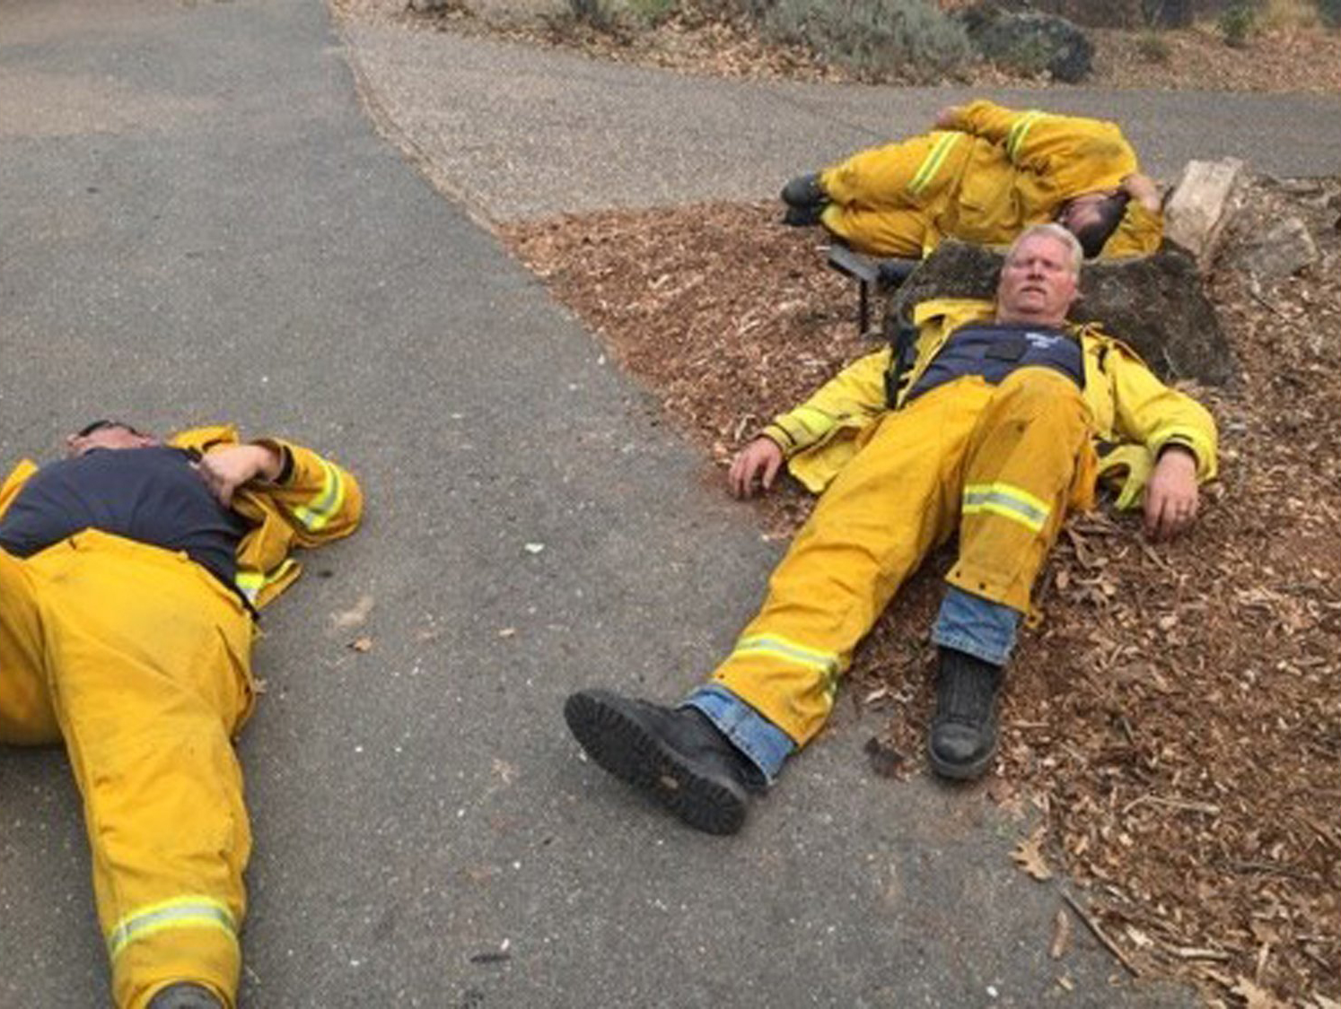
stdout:
[[1065,17],[982,3],[960,13],[974,47],[994,63],[1074,84],[1089,76],[1094,47]]

